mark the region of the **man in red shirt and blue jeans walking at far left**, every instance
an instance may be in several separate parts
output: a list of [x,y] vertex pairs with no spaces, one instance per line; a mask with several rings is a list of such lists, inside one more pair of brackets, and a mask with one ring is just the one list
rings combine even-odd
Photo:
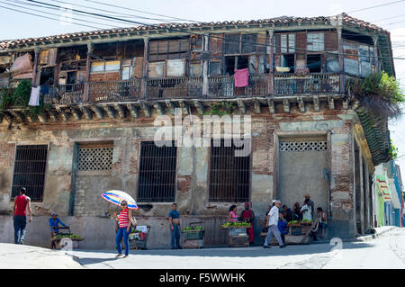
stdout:
[[20,190],[20,195],[14,199],[14,243],[24,244],[25,226],[27,225],[27,207],[31,222],[31,199],[25,195],[26,189],[23,187]]

